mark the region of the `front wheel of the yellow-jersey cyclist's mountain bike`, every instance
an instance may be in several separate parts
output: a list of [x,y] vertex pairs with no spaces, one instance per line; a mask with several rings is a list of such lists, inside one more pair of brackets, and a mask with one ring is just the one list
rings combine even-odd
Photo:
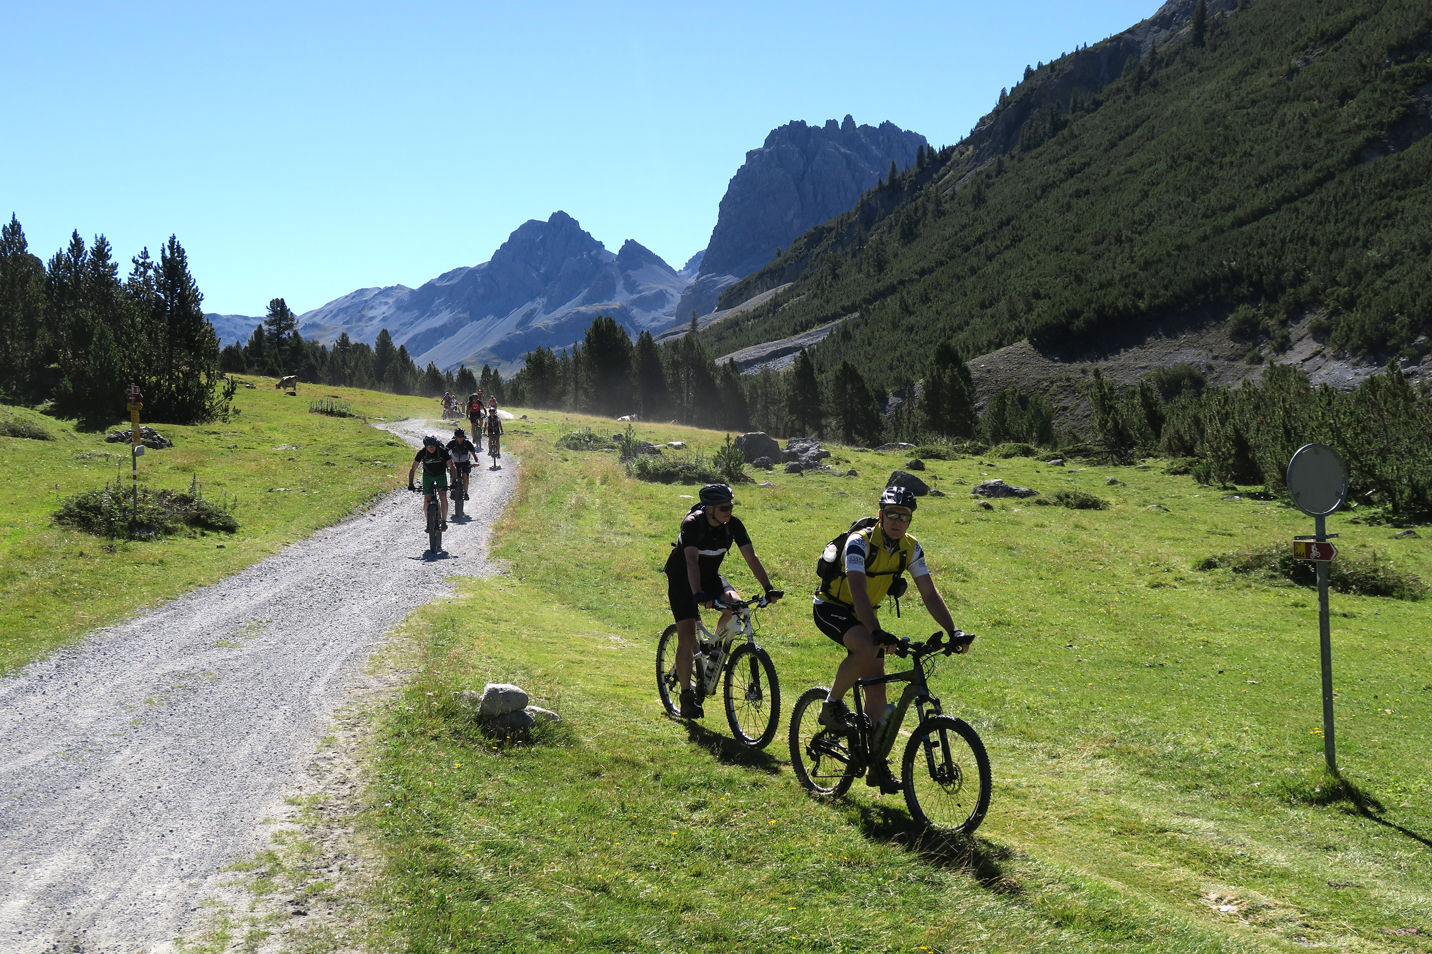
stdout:
[[974,834],[990,810],[990,757],[964,719],[932,715],[905,745],[905,805],[927,828]]

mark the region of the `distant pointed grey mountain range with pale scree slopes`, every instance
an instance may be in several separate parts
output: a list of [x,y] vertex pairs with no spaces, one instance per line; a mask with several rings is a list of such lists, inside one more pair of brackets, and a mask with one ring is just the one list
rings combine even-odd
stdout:
[[637,242],[611,253],[566,212],[531,219],[488,262],[453,269],[410,289],[359,289],[299,316],[305,338],[342,332],[372,343],[384,328],[420,366],[491,363],[508,370],[537,346],[579,340],[597,315],[633,336],[670,323],[686,285]]

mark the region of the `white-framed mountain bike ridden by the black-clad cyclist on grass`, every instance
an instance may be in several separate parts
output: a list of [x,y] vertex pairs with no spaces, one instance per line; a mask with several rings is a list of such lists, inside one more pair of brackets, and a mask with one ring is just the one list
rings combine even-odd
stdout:
[[[776,596],[779,599],[780,595]],[[696,619],[696,652],[692,659],[696,701],[716,695],[716,684],[726,675],[726,722],[737,742],[765,748],[776,735],[780,721],[780,682],[770,657],[756,644],[756,625],[750,608],[768,606],[765,595],[743,602],[715,601],[717,609],[730,609],[730,619],[715,634]],[[742,636],[745,642],[736,645]],[[735,648],[733,648],[735,646]],[[680,717],[682,684],[676,678],[676,624],[656,644],[656,694],[666,712]]]

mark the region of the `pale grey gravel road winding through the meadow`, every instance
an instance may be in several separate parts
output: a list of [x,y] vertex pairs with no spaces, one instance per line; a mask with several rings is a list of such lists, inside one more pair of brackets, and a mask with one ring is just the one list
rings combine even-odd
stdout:
[[[421,425],[388,429],[417,443]],[[474,466],[442,558],[400,491],[0,679],[0,951],[168,950],[221,870],[263,847],[382,634],[444,578],[488,571],[504,463]]]

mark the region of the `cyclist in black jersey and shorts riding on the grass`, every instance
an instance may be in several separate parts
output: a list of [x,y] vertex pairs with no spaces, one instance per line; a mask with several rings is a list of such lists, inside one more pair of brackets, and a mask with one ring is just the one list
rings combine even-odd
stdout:
[[[676,679],[682,687],[682,718],[699,719],[705,715],[692,691],[692,654],[696,651],[697,605],[713,609],[713,599],[735,602],[740,594],[720,575],[720,564],[726,552],[736,546],[746,558],[746,565],[756,581],[766,588],[766,599],[780,599],[782,591],[772,589],[766,568],[756,556],[750,533],[740,518],[732,513],[735,495],[725,483],[707,483],[702,488],[700,503],[682,519],[682,529],[672,544],[672,555],[666,558],[666,598],[676,619]],[[717,631],[730,619],[730,611],[723,609]]]

